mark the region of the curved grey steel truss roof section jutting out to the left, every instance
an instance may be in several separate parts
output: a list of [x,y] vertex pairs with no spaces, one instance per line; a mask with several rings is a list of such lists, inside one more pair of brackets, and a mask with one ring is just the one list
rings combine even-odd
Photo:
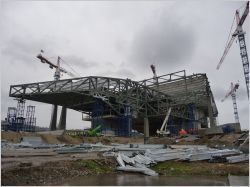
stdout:
[[[130,79],[82,77],[58,81],[10,86],[11,97],[63,105],[89,114],[96,99],[105,103],[105,111],[123,115],[130,106],[135,115],[164,115],[171,97]],[[157,95],[157,97],[156,97]],[[179,112],[176,115],[180,115]]]

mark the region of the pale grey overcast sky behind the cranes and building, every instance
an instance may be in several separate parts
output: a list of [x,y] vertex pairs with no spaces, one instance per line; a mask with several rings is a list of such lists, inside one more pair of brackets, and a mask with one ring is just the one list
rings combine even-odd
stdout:
[[[141,80],[152,77],[152,63],[158,75],[183,69],[187,74],[206,73],[219,124],[234,122],[231,97],[223,103],[221,99],[230,83],[239,81],[239,118],[242,129],[248,129],[238,42],[216,70],[235,10],[241,8],[242,13],[244,5],[244,1],[1,1],[1,118],[9,106],[16,106],[8,97],[10,85],[53,80],[54,70],[36,58],[43,49],[51,61],[61,56],[81,76]],[[249,16],[243,29],[249,44]],[[70,70],[67,64],[62,66]],[[36,106],[37,125],[49,126],[51,105],[32,101],[26,105]],[[68,111],[68,129],[86,126],[81,113]]]

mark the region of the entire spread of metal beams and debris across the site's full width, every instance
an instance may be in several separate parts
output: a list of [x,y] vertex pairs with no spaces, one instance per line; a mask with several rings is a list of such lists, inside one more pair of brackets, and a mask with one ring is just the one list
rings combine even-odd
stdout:
[[[44,150],[43,150],[44,148]],[[33,152],[33,149],[39,149]],[[2,157],[19,156],[53,156],[56,154],[87,154],[102,152],[104,157],[115,157],[118,163],[117,170],[140,172],[150,176],[158,175],[149,169],[157,162],[168,160],[209,162],[243,162],[248,160],[248,154],[238,149],[217,149],[205,145],[163,145],[163,144],[111,144],[102,143],[79,145],[44,144],[38,137],[24,138],[20,144],[12,144],[2,140]],[[6,151],[7,150],[7,151]],[[12,152],[16,152],[13,154]]]

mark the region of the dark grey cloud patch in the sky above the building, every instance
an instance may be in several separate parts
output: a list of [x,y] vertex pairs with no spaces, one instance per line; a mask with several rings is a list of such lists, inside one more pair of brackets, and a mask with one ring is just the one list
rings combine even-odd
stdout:
[[137,32],[131,60],[138,65],[157,63],[162,68],[187,62],[196,46],[195,33],[192,27],[181,25],[175,19],[173,16],[156,20]]

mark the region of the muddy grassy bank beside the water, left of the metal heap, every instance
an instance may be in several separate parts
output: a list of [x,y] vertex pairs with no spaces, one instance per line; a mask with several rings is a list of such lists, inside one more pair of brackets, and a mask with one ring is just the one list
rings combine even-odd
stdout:
[[1,185],[55,185],[78,176],[99,175],[115,172],[115,160],[63,160],[47,162],[41,166],[22,165],[18,168],[2,172]]

